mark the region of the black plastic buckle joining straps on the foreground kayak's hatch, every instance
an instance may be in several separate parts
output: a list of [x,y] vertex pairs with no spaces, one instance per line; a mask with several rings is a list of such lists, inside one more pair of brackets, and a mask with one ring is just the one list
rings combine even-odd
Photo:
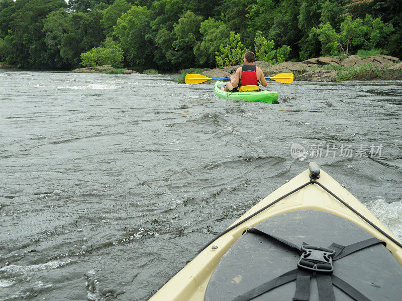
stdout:
[[297,262],[297,268],[323,274],[332,274],[332,256],[335,251],[332,249],[321,248],[311,245],[302,246],[302,255]]

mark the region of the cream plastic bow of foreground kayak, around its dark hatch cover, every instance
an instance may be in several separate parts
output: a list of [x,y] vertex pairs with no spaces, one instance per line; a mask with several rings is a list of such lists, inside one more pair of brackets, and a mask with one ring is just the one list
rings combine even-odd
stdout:
[[[258,204],[253,206],[248,212],[246,212],[232,225],[235,225],[244,218],[257,212],[261,208],[267,206],[274,200],[282,197],[295,188],[302,186],[309,181],[309,175],[310,172],[309,170],[307,170],[290,180],[288,183],[285,183],[283,186],[275,190]],[[317,181],[323,184],[330,191],[334,192],[339,198],[344,200],[348,205],[353,207],[356,211],[358,211],[362,216],[371,221],[383,232],[397,240],[396,237],[366,207],[364,207],[364,205],[362,205],[345,188],[343,188],[324,171],[321,170],[320,179]],[[242,237],[243,232],[247,228],[254,227],[261,222],[264,222],[281,214],[302,211],[324,212],[326,214],[335,215],[353,223],[353,225],[361,228],[368,234],[386,242],[386,248],[391,252],[395,264],[398,266],[398,268],[400,268],[400,265],[402,265],[402,248],[400,248],[389,238],[381,234],[378,230],[369,225],[362,218],[357,216],[354,212],[352,212],[345,205],[340,203],[337,199],[332,197],[320,186],[308,185],[303,189],[287,196],[278,203],[272,205],[270,208],[253,216],[251,219],[247,220],[243,224],[237,226],[236,228],[230,230],[223,236],[216,239],[211,245],[205,248],[191,262],[189,262],[183,269],[181,269],[161,289],[159,289],[159,291],[157,291],[150,300],[205,300],[207,286],[209,285],[210,279],[214,271],[216,270],[219,262],[221,261],[222,257],[228,252],[229,248],[237,243],[239,238]],[[346,232],[345,236],[347,235],[348,233]],[[308,243],[314,242],[309,241]],[[212,246],[214,246],[214,248]],[[323,245],[323,247],[327,246]],[[235,276],[236,275],[234,275],[234,277]]]

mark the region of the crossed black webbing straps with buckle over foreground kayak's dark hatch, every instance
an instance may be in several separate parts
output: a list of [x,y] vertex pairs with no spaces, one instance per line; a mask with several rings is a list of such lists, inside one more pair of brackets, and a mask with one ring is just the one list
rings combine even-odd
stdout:
[[378,238],[372,237],[347,246],[332,243],[328,248],[321,248],[303,243],[301,247],[284,240],[282,238],[270,235],[256,228],[249,228],[245,232],[264,236],[268,239],[281,243],[300,255],[297,268],[288,271],[274,279],[271,279],[246,293],[237,296],[232,301],[250,301],[251,299],[283,284],[296,280],[296,291],[293,301],[309,301],[310,299],[310,281],[312,276],[316,277],[317,288],[320,301],[336,301],[333,285],[344,291],[347,295],[356,301],[371,301],[356,288],[343,281],[333,274],[332,261],[341,259],[354,252],[371,247],[376,244],[386,243]]

